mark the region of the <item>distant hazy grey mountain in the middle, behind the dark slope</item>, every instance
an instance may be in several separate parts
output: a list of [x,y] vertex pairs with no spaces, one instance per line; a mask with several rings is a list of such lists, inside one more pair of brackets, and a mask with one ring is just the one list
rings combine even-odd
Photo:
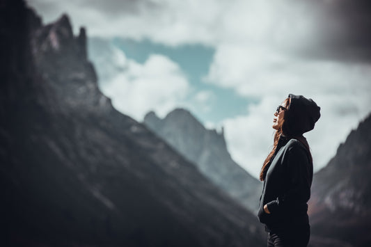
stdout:
[[232,198],[257,211],[262,184],[239,166],[227,149],[221,133],[205,127],[185,109],[175,109],[160,119],[151,111],[144,124],[163,138],[177,152],[196,164],[198,169]]

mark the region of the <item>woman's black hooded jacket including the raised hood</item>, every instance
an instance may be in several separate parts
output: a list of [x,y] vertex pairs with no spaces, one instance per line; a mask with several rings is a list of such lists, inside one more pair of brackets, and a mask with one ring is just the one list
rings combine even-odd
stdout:
[[[320,108],[312,99],[302,95],[290,94],[288,97],[290,106],[285,112],[283,125],[286,136],[278,140],[259,202],[258,218],[269,232],[308,225],[309,222],[307,202],[313,180],[313,163],[301,141],[305,140],[302,134],[314,128],[320,117]],[[270,214],[264,211],[264,205]]]

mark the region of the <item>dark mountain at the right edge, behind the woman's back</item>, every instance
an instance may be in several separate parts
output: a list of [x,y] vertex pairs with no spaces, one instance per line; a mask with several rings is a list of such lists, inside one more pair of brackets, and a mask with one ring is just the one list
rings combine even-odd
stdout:
[[371,115],[329,164],[315,173],[310,199],[312,246],[370,246]]

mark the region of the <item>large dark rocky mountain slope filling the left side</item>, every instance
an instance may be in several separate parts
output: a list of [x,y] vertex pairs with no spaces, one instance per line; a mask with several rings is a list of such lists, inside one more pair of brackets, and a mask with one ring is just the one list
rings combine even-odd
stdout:
[[116,111],[86,30],[0,4],[1,246],[264,246],[256,217]]

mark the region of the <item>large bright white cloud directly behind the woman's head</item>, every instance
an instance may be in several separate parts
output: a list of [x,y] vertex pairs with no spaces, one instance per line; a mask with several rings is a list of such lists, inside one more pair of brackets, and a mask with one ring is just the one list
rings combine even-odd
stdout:
[[232,157],[258,175],[273,143],[274,110],[289,93],[313,98],[322,108],[315,130],[306,135],[318,170],[371,111],[370,78],[367,63],[303,60],[265,47],[223,45],[205,80],[259,99],[248,114],[223,121]]

